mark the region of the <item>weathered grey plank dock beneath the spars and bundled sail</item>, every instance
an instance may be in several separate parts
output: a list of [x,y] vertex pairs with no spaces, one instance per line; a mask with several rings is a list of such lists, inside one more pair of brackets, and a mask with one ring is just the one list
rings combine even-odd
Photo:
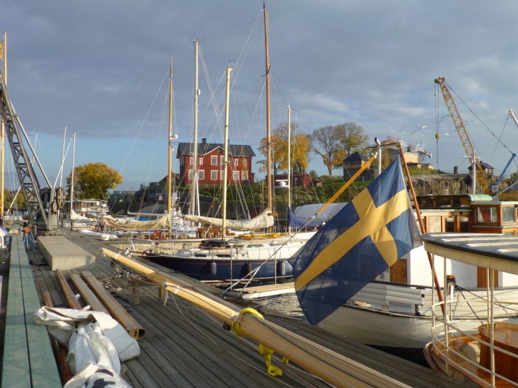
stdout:
[[[272,364],[281,368],[282,376],[270,377],[264,358],[258,353],[254,341],[225,330],[222,322],[174,295],[169,294],[164,304],[159,296],[159,286],[141,281],[137,304],[133,283],[127,280],[125,273],[113,272],[110,261],[99,255],[100,249],[109,247],[110,242],[98,241],[92,236],[68,230],[63,230],[63,236],[95,255],[95,262],[88,270],[102,281],[105,287],[118,295],[117,300],[146,331],[146,336],[138,341],[140,356],[122,365],[122,377],[134,388],[330,386],[293,363],[283,364],[277,354],[272,356]],[[20,236],[15,236],[13,244],[18,244],[16,249],[19,249],[20,243]],[[34,263],[30,267],[40,304],[43,304],[42,292],[48,291],[56,307],[68,307],[55,272],[51,271],[47,264],[42,263],[41,252],[36,247],[31,248],[27,256]],[[160,270],[172,274],[165,268]],[[75,272],[78,271],[64,271],[66,275]],[[174,276],[207,295],[221,295],[221,290],[217,288],[186,276]],[[223,300],[221,302],[231,305]],[[232,306],[237,310],[241,308]],[[313,327],[301,319],[266,309],[262,314],[266,320],[389,376],[401,385],[416,388],[462,386],[429,368],[356,344],[344,337]],[[4,356],[3,369],[5,370],[11,362],[13,361]],[[4,385],[2,381],[2,386],[8,385]]]

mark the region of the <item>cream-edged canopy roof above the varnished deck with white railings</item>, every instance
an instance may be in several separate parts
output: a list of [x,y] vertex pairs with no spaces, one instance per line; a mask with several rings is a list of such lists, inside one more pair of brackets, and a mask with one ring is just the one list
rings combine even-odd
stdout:
[[434,255],[518,275],[518,236],[499,233],[426,233]]

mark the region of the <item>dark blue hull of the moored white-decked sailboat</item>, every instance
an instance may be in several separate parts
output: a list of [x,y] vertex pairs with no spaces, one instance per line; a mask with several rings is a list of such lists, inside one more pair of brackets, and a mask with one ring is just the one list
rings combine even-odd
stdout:
[[207,260],[196,258],[176,258],[162,255],[146,255],[143,258],[176,272],[203,280],[236,280],[246,277],[261,264],[254,279],[292,277],[292,266],[285,260]]

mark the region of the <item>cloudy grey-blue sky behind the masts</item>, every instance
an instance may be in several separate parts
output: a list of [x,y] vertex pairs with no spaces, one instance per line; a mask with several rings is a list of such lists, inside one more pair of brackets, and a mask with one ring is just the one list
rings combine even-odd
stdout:
[[[392,136],[424,143],[436,168],[467,171],[434,84],[445,77],[482,160],[499,173],[516,152],[518,128],[508,111],[518,106],[517,2],[267,0],[266,6],[272,129],[287,120],[290,105],[300,132],[354,122],[372,142]],[[262,0],[4,4],[9,95],[51,183],[65,127],[66,148],[77,136],[75,165],[106,163],[123,175],[120,190],[167,174],[170,56],[173,132],[190,142],[193,39],[201,47],[198,141],[222,141],[217,117],[230,64],[229,139],[250,144],[259,159],[266,136],[262,7]],[[71,155],[70,146],[66,175]],[[316,155],[310,169],[326,171]],[[516,169],[513,162],[509,171]],[[6,178],[6,187],[16,186]]]

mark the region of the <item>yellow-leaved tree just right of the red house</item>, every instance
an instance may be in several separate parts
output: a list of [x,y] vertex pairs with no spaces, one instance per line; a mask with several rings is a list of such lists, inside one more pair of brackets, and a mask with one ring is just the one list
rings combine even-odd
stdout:
[[[310,151],[308,135],[305,133],[297,133],[298,123],[292,122],[290,126],[290,139],[291,139],[291,166],[294,170],[294,166],[299,174],[303,174],[308,168],[308,155]],[[271,140],[271,155],[272,155],[272,168],[274,174],[277,174],[279,170],[287,170],[288,167],[288,124],[287,122],[281,123],[277,128],[270,134]],[[261,139],[258,151],[262,155],[266,155],[267,152],[267,139]],[[266,171],[266,159],[258,160],[257,163],[262,165],[260,171]]]

